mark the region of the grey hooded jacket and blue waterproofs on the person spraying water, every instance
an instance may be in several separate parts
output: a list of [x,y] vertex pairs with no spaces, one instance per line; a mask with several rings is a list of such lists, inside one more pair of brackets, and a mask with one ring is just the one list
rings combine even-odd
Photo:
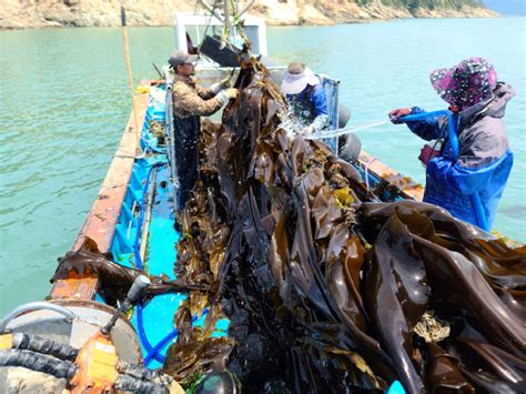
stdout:
[[[443,206],[452,215],[478,225],[471,199],[478,192],[492,225],[513,165],[503,117],[506,103],[514,94],[510,85],[499,83],[493,98],[459,113],[457,160],[447,140],[446,118],[407,122],[411,131],[424,140],[445,140],[442,154],[427,163],[425,202]],[[412,111],[422,112],[425,111],[417,107]]]

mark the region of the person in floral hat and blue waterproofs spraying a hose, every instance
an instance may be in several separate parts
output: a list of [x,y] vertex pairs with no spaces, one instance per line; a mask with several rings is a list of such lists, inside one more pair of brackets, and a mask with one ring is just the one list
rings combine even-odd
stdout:
[[[478,193],[490,226],[513,165],[503,117],[515,91],[509,84],[497,82],[494,67],[482,58],[436,70],[431,73],[431,82],[449,103],[449,110],[458,115],[459,156],[453,155],[445,117],[406,122],[424,140],[442,140],[438,151],[423,150],[419,156],[427,172],[424,201],[478,225],[469,198]],[[404,115],[423,112],[413,107],[394,110],[388,115],[393,123],[403,123]]]

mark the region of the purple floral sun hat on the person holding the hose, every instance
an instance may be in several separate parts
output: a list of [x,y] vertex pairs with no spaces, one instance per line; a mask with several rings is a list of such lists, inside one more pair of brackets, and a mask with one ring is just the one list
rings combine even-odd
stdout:
[[495,68],[483,58],[469,58],[429,75],[433,89],[451,105],[465,110],[488,99],[497,84]]

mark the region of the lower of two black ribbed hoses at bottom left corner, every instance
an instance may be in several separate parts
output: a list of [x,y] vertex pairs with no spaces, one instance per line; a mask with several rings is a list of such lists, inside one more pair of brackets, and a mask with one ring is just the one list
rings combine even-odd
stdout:
[[68,381],[77,372],[74,364],[69,361],[60,361],[39,353],[21,350],[0,351],[0,366],[22,366]]

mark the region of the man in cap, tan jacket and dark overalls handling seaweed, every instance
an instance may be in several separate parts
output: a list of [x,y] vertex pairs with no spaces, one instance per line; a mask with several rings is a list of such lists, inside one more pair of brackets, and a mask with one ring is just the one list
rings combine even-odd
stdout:
[[235,99],[239,94],[237,89],[229,88],[230,78],[213,84],[210,89],[196,85],[192,79],[195,74],[196,60],[198,55],[186,52],[172,53],[169,59],[174,72],[172,92],[179,210],[182,210],[190,199],[198,179],[200,117],[218,112],[229,100]]

